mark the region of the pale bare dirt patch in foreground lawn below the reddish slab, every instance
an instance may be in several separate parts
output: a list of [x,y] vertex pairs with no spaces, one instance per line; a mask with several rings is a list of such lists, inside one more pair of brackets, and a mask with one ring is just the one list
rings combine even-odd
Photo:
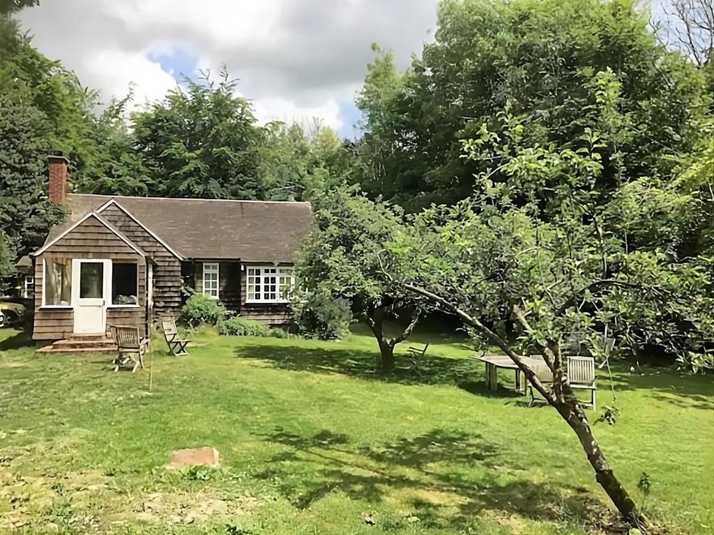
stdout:
[[194,522],[226,519],[251,514],[260,504],[258,499],[243,496],[221,499],[208,492],[154,492],[137,504],[134,519],[149,524],[193,524]]

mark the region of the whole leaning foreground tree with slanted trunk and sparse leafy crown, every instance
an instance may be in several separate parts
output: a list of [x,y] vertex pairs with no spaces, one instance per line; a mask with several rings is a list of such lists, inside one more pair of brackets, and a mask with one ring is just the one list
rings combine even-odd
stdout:
[[[623,198],[603,197],[600,184],[603,155],[613,153],[626,116],[619,111],[616,81],[607,72],[600,78],[605,83],[597,84],[593,104],[598,131],[586,127],[565,146],[542,146],[528,138],[521,116],[502,113],[498,131],[483,123],[477,138],[464,140],[466,158],[491,162],[508,180],[495,182],[493,169],[480,173],[470,198],[417,215],[384,245],[383,276],[398,291],[457,315],[511,357],[573,429],[618,511],[644,526],[642,511],[593,437],[568,382],[564,355],[573,337],[601,355],[603,335],[631,335],[641,310],[649,315],[640,327],[661,332],[661,322],[679,315],[698,322],[693,329],[701,340],[714,325],[714,299],[705,291],[714,263],[681,255],[700,213],[695,195],[662,190],[655,200],[659,211],[648,212],[654,223],[639,218],[629,235],[621,228],[632,212],[623,216]],[[656,192],[634,185],[625,183],[618,193],[646,210]],[[499,328],[506,322],[512,322],[515,340],[498,334],[508,332]],[[552,388],[523,359],[533,353],[553,373]]]

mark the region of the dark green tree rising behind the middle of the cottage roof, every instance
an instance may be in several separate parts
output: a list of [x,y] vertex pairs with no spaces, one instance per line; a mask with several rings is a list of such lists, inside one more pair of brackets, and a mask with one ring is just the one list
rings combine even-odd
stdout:
[[251,104],[236,97],[223,70],[216,84],[206,73],[185,81],[148,111],[132,115],[134,146],[166,197],[261,199],[259,148],[263,129]]

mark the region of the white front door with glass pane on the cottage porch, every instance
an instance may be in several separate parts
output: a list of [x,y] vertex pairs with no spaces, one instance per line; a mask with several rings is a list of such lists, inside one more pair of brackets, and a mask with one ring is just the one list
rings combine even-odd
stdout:
[[106,304],[111,295],[111,260],[72,260],[74,332],[106,332]]

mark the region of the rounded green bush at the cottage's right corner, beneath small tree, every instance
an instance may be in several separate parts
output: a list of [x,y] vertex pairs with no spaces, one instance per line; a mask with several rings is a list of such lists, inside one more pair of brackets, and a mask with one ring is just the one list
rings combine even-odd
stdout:
[[318,292],[293,301],[298,332],[318,340],[339,340],[348,335],[352,312],[346,299]]

